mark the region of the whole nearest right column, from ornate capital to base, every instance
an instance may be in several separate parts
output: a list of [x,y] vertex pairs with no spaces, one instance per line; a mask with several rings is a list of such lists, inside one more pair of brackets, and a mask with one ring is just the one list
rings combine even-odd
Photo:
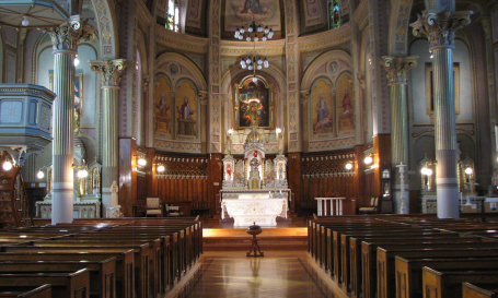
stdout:
[[456,117],[454,104],[453,49],[455,32],[471,23],[472,11],[424,11],[413,23],[414,35],[429,39],[433,55],[436,159],[438,160],[438,217],[459,218],[456,172]]

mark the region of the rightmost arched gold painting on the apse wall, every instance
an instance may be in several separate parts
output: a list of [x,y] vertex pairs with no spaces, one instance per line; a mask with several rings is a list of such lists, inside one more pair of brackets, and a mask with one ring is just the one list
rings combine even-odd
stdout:
[[355,129],[355,109],[352,82],[348,74],[340,75],[337,81],[337,121],[339,133]]

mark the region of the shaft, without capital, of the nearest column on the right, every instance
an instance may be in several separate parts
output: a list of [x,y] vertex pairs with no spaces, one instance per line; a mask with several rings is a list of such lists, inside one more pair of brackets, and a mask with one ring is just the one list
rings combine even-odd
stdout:
[[433,49],[438,217],[459,218],[453,49]]

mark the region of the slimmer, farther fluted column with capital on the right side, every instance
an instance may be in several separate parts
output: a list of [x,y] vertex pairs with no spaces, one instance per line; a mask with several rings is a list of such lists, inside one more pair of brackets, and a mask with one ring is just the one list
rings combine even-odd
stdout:
[[[395,169],[397,165],[408,164],[408,114],[406,98],[406,82],[408,71],[417,65],[418,57],[381,57],[381,64],[387,71],[387,86],[390,87],[391,102],[391,163]],[[394,170],[393,172],[396,172]],[[399,214],[409,213],[408,192],[402,193],[401,189],[408,190],[406,184],[401,187],[399,175],[394,176],[394,203],[395,211]],[[403,198],[405,200],[403,200]]]

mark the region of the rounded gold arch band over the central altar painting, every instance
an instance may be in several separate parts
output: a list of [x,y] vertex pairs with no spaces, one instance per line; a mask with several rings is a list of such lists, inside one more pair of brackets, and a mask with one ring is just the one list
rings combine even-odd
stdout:
[[[239,60],[238,60],[239,61]],[[242,78],[248,75],[252,71],[240,68],[239,63],[232,64],[221,75],[221,93],[229,94],[233,83],[241,81]],[[286,91],[286,75],[283,70],[276,63],[270,63],[267,69],[256,71],[256,76],[259,75],[275,84],[276,93]]]

